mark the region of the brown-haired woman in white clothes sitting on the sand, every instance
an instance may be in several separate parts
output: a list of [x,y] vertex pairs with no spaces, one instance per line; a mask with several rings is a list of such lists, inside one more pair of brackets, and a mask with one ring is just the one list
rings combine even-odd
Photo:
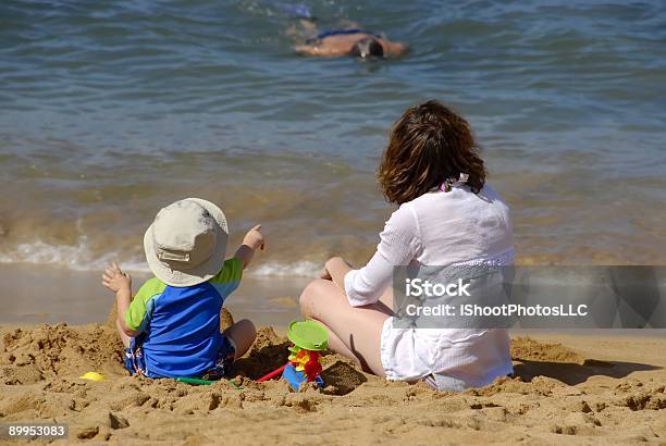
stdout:
[[510,374],[506,330],[393,326],[394,267],[513,263],[509,209],[485,184],[467,121],[434,100],[407,109],[393,126],[379,183],[399,208],[377,252],[359,270],[330,259],[303,292],[303,313],[329,329],[333,350],[388,380],[459,391]]

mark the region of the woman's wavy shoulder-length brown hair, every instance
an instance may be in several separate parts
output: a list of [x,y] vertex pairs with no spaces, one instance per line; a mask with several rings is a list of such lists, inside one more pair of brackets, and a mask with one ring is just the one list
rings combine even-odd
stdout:
[[378,171],[386,200],[402,205],[460,174],[481,191],[485,168],[469,123],[435,100],[408,108],[391,129]]

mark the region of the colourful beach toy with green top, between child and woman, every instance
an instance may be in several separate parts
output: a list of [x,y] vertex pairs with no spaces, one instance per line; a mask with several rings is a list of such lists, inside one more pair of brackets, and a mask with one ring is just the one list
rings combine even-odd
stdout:
[[288,347],[288,362],[257,381],[261,383],[282,373],[282,379],[295,391],[298,391],[303,383],[313,382],[318,387],[323,387],[319,360],[320,351],[329,347],[326,329],[314,321],[294,321],[289,324],[287,338],[292,342]]

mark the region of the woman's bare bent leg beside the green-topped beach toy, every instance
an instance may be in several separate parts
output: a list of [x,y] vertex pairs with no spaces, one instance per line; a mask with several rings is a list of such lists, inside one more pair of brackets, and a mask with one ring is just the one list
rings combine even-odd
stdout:
[[331,349],[347,356],[365,370],[384,376],[380,348],[384,321],[392,314],[381,302],[351,307],[331,281],[317,280],[300,295],[300,309],[329,329]]

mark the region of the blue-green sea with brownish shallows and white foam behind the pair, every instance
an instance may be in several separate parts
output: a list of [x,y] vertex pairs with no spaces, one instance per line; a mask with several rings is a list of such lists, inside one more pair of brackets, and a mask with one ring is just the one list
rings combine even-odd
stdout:
[[258,273],[360,262],[391,212],[387,129],[437,98],[526,262],[666,262],[666,3],[304,3],[411,47],[369,63],[297,55],[287,3],[3,1],[0,260],[141,269],[155,212],[200,195],[264,224]]

